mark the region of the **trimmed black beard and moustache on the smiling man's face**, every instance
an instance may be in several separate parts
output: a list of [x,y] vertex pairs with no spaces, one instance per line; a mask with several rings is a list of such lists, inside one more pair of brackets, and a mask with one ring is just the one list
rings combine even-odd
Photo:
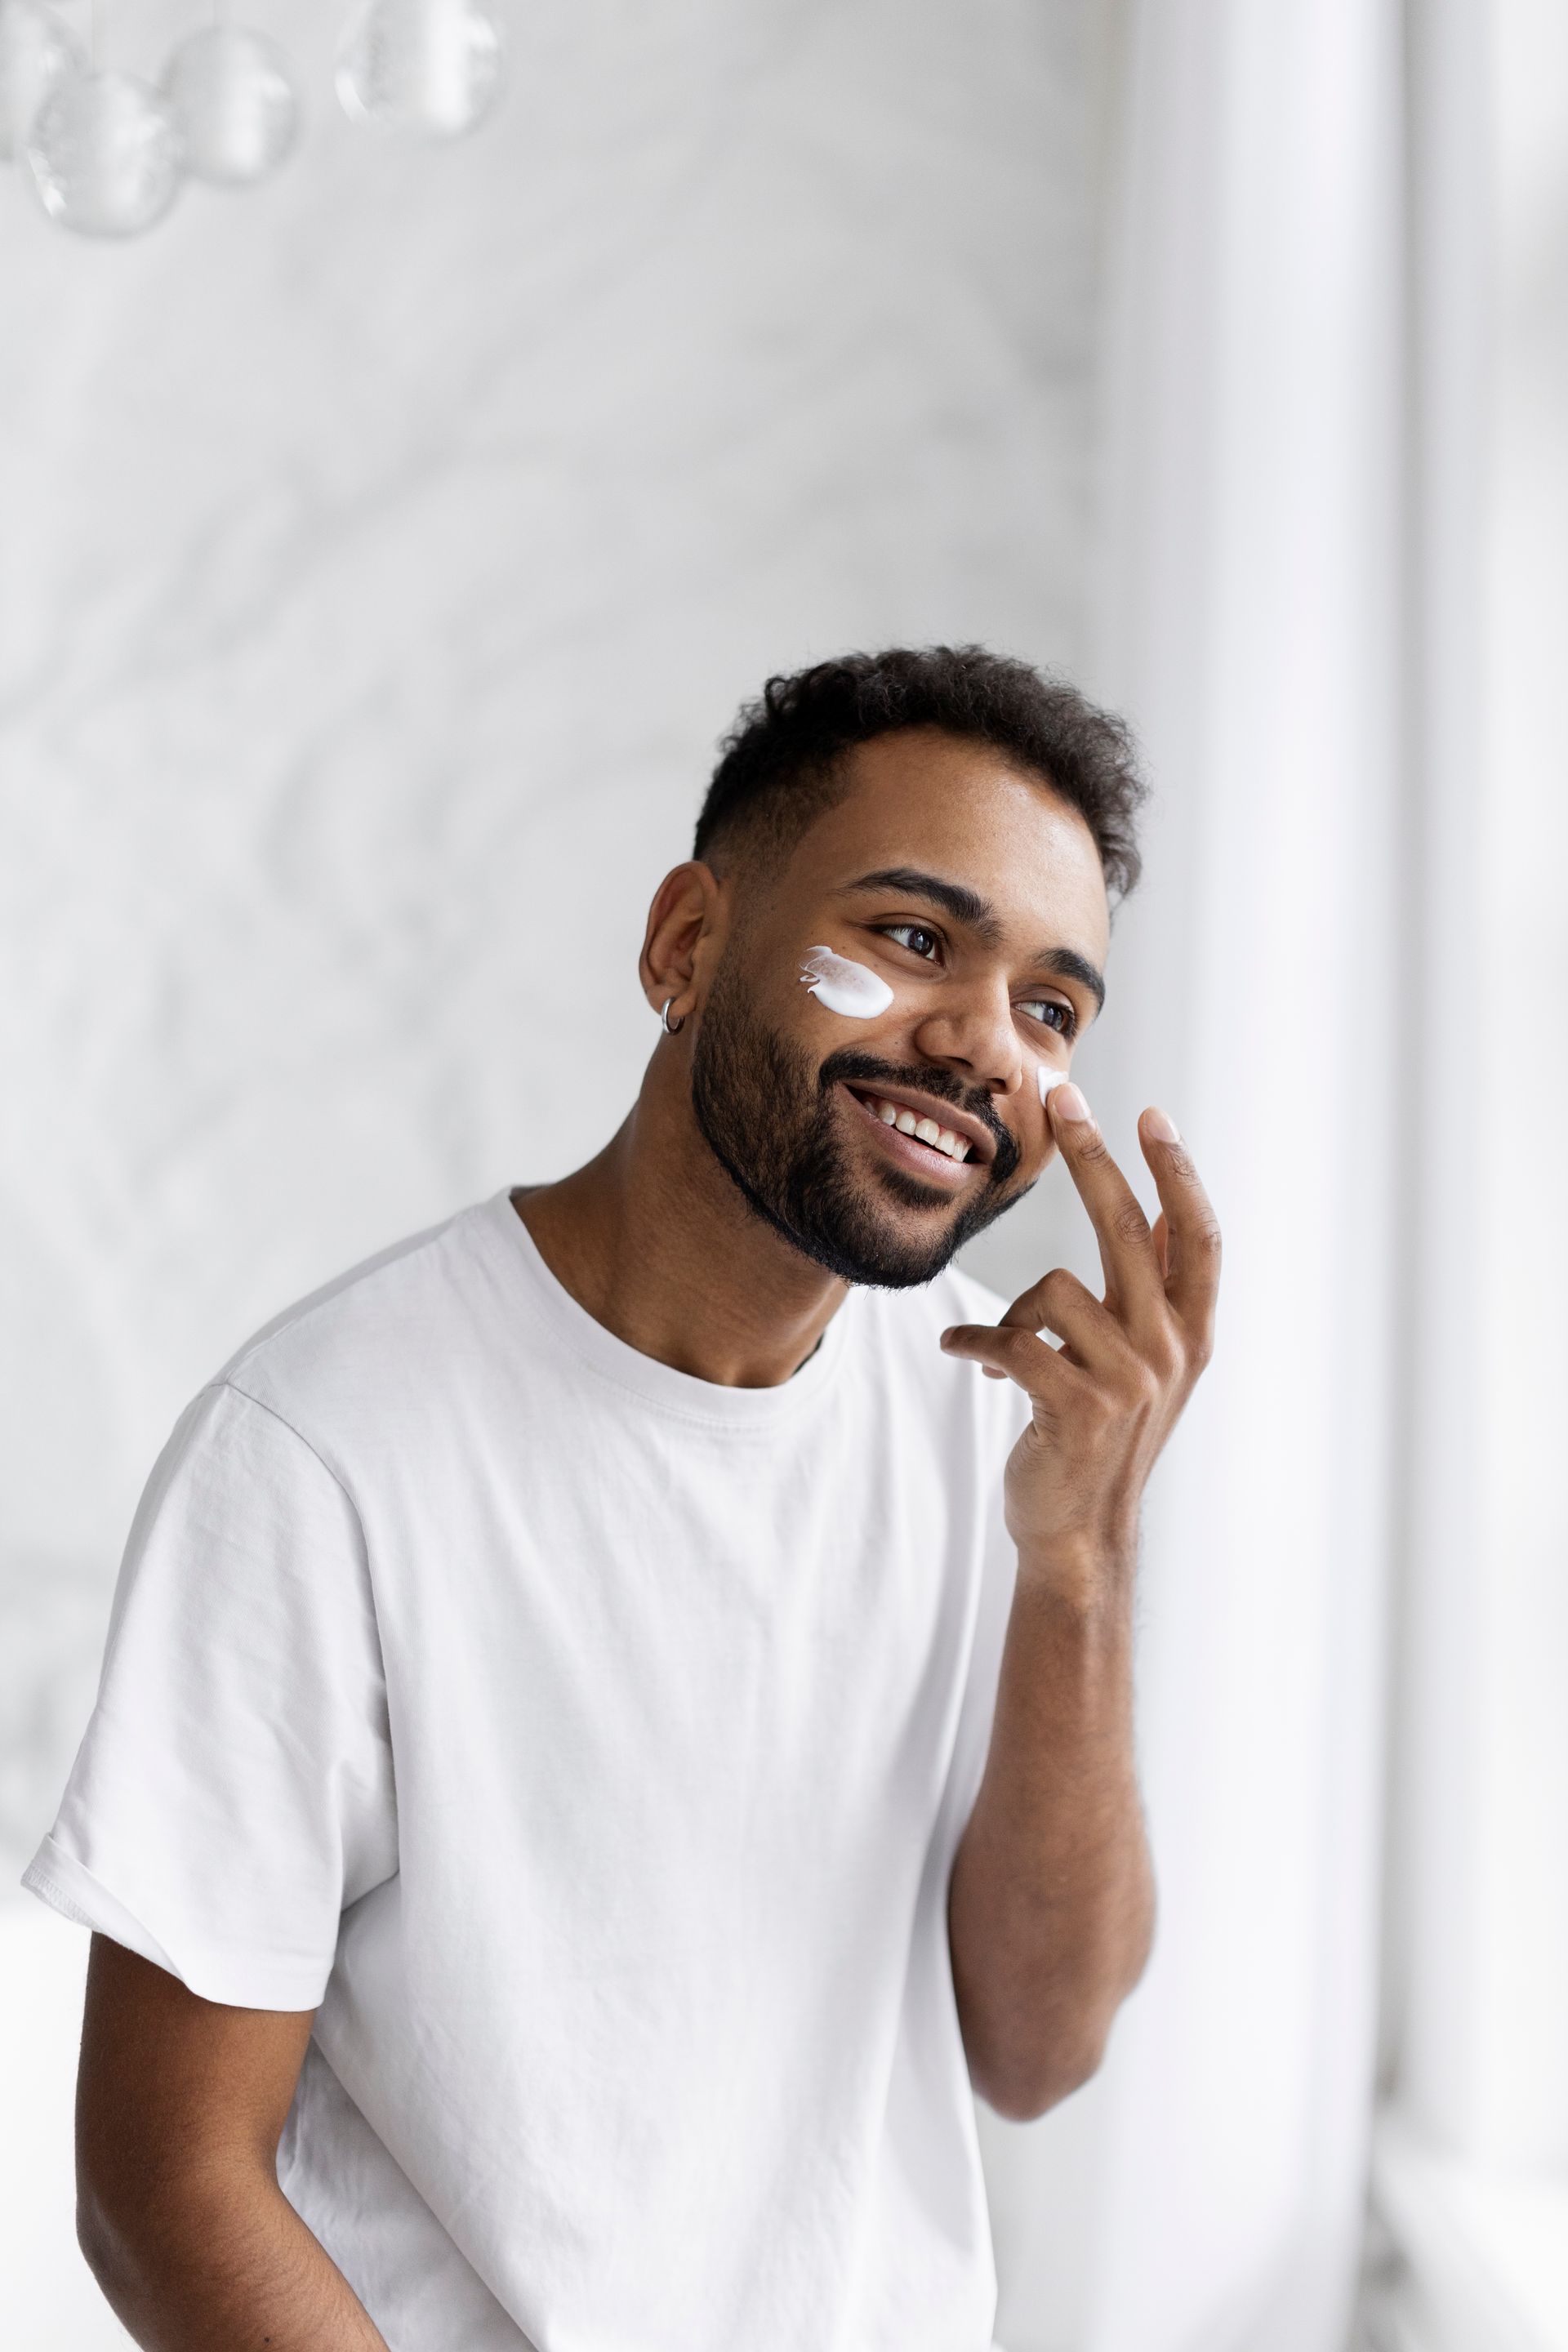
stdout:
[[[835,1131],[837,1084],[917,1087],[980,1120],[997,1143],[983,1188],[954,1211],[933,1240],[912,1240],[877,1209],[853,1178]],[[950,1070],[926,1063],[898,1068],[870,1054],[830,1054],[813,1073],[811,1058],[788,1037],[752,1018],[741,990],[724,974],[703,1009],[691,1049],[691,1110],[703,1138],[750,1209],[773,1232],[842,1282],[900,1291],[931,1282],[1004,1209],[1030,1190],[1013,1185],[1018,1143],[992,1110],[990,1094],[964,1087]],[[910,1209],[931,1209],[945,1195],[903,1169],[882,1169],[879,1190]]]

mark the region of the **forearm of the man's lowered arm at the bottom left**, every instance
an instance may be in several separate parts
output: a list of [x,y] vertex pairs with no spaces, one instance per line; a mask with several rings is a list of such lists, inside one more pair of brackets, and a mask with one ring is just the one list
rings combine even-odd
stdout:
[[252,2171],[160,2180],[120,2213],[85,2192],[80,2239],[146,2352],[386,2352],[320,2239]]

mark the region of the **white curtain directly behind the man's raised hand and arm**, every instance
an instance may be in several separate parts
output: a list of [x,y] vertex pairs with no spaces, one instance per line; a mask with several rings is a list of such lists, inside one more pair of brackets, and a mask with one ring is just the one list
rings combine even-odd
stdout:
[[1161,1886],[1100,2079],[987,2126],[1009,2352],[1342,2352],[1375,2070],[1399,1287],[1401,21],[1133,0],[1093,684],[1157,781],[1086,1063],[1227,1237],[1157,1472]]

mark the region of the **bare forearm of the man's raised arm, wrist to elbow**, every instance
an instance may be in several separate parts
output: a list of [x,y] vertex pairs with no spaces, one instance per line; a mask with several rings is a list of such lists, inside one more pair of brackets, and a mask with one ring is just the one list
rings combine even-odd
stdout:
[[1095,2070],[1154,1929],[1131,1545],[1072,1573],[1020,1559],[947,1922],[973,2084],[1004,2114],[1039,2114]]

